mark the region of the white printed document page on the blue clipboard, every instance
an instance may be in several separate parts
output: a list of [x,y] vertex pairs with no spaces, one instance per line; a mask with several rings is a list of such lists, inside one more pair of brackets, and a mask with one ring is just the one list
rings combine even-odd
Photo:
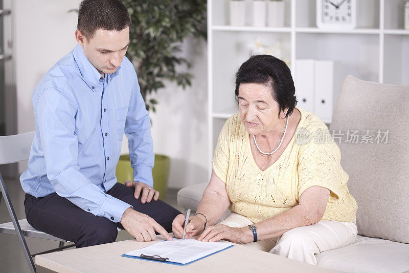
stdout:
[[219,250],[233,245],[229,242],[201,242],[196,239],[176,239],[162,241],[138,250],[133,250],[125,255],[140,257],[141,254],[161,258],[169,258],[167,262],[186,264],[202,257],[208,256]]

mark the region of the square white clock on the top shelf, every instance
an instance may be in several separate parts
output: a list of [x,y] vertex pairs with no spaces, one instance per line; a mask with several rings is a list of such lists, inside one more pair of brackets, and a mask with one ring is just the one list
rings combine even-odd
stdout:
[[323,23],[350,24],[351,12],[351,0],[322,0]]

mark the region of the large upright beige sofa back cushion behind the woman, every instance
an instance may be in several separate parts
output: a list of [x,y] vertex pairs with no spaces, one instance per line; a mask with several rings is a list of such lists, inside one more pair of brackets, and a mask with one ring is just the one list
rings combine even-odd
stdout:
[[[340,130],[337,137],[342,136],[334,137],[334,141],[349,175],[349,191],[358,203],[356,224],[360,235],[409,243],[408,106],[409,86],[384,85],[352,76],[341,84],[330,132]],[[359,131],[358,143],[347,141],[348,130]],[[381,137],[389,130],[388,138],[377,140],[378,130]],[[373,143],[366,143],[365,135]]]

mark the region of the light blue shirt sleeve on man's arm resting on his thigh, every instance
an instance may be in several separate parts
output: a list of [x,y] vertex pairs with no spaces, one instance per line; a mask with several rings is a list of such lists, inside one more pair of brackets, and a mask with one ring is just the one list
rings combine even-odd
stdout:
[[155,159],[150,132],[150,117],[141,95],[136,73],[132,87],[128,114],[125,122],[125,135],[133,168],[133,181],[143,182],[153,187],[152,167]]

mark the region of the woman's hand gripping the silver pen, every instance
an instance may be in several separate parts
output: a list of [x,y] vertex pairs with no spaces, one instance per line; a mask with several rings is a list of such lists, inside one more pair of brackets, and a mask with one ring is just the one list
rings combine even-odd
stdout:
[[[185,239],[188,239],[192,236],[198,235],[202,232],[205,227],[206,219],[201,215],[193,215],[189,217],[189,223],[186,226],[186,236]],[[183,229],[185,225],[185,215],[179,214],[173,220],[172,223],[172,232],[176,238],[182,238]]]

